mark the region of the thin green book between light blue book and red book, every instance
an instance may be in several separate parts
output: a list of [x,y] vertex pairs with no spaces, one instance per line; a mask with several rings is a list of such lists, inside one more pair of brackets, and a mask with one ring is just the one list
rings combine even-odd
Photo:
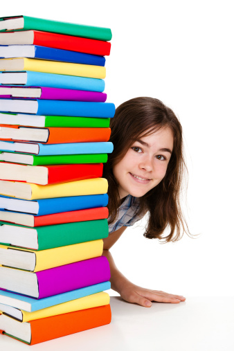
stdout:
[[0,151],[0,161],[24,165],[71,165],[75,163],[106,163],[107,154],[49,155],[37,156],[17,152]]

